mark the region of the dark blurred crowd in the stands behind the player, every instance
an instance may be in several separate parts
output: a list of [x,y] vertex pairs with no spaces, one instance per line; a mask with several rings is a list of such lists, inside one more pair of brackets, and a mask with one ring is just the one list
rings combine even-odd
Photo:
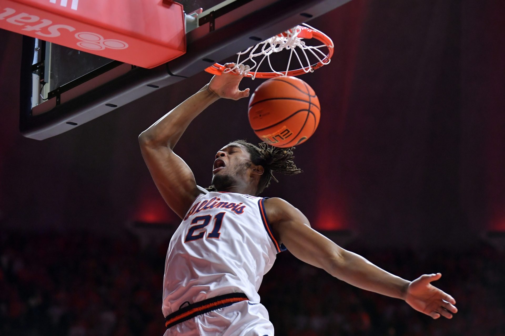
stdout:
[[[167,247],[142,247],[132,235],[0,233],[0,335],[162,336]],[[435,285],[459,313],[432,320],[283,252],[260,289],[276,335],[505,336],[505,253],[482,243],[422,253],[347,248],[409,280],[442,273]]]

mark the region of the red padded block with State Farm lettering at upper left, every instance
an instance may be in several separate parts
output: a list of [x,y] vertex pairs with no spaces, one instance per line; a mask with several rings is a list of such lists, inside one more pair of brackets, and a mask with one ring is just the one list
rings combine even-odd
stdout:
[[0,28],[142,68],[186,52],[183,7],[170,0],[0,0]]

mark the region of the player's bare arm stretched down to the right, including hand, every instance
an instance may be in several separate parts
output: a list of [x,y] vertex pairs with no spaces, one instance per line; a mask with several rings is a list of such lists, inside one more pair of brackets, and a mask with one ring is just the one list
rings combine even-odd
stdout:
[[441,274],[423,275],[414,281],[401,279],[364,257],[347,251],[313,230],[307,218],[280,198],[265,200],[273,234],[298,259],[356,287],[405,300],[414,309],[438,318],[452,318],[456,301],[430,283]]

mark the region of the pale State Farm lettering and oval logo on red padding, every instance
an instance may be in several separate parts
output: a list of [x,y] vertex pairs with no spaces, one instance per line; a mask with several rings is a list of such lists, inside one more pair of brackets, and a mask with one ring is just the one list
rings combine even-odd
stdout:
[[[42,39],[56,38],[64,33],[75,31],[75,28],[72,26],[53,24],[53,21],[40,19],[40,17],[36,15],[30,15],[28,13],[17,14],[16,10],[12,8],[3,9],[3,12],[0,13],[0,21],[1,20],[6,20],[6,22],[14,26],[24,26],[23,28],[18,27],[18,31],[21,34],[23,34],[23,31],[34,32],[42,36]],[[125,41],[106,39],[102,35],[92,32],[79,32],[75,33],[74,36],[79,40],[79,42],[76,43],[77,46],[88,50],[104,50],[107,48],[120,50],[126,49],[129,46]],[[61,42],[61,40],[62,39],[57,42]]]

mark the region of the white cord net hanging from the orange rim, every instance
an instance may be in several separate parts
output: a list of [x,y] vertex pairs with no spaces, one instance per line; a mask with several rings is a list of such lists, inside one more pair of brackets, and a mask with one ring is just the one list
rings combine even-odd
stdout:
[[[318,31],[317,29],[309,26],[306,23],[304,23],[303,25],[309,29]],[[251,74],[251,79],[255,79],[261,64],[266,58],[268,60],[270,69],[273,73],[287,76],[293,53],[301,66],[300,70],[303,70],[305,73],[311,73],[314,71],[313,68],[314,64],[311,64],[311,61],[309,60],[309,55],[307,54],[308,52],[310,52],[313,56],[315,56],[315,58],[318,59],[319,62],[321,62],[323,65],[328,64],[331,61],[331,58],[327,57],[328,55],[325,54],[323,51],[321,51],[320,48],[323,47],[333,48],[333,42],[331,42],[331,45],[326,44],[316,46],[307,45],[304,41],[304,38],[298,36],[302,32],[302,30],[303,28],[301,26],[296,26],[290,30],[287,30],[286,32],[284,32],[284,34],[273,36],[268,40],[258,43],[255,46],[247,48],[244,51],[237,52],[238,57],[235,66],[233,68],[227,68],[223,72],[228,73],[230,71],[237,69],[241,75],[245,76],[247,74]],[[324,33],[320,31],[318,32],[331,41],[331,39],[327,37]],[[286,70],[276,71],[275,69],[273,69],[272,63],[270,62],[270,55],[285,49],[290,50]],[[301,58],[300,55],[298,54],[299,51],[301,51],[302,53]],[[247,53],[249,54],[249,56],[243,60],[240,60],[240,56],[246,55]],[[261,57],[261,60],[257,61],[254,59],[255,57]],[[247,71],[241,70],[241,68],[243,69],[243,66],[240,65],[245,64],[245,62],[249,60],[252,62],[252,65],[250,65],[249,69]]]

